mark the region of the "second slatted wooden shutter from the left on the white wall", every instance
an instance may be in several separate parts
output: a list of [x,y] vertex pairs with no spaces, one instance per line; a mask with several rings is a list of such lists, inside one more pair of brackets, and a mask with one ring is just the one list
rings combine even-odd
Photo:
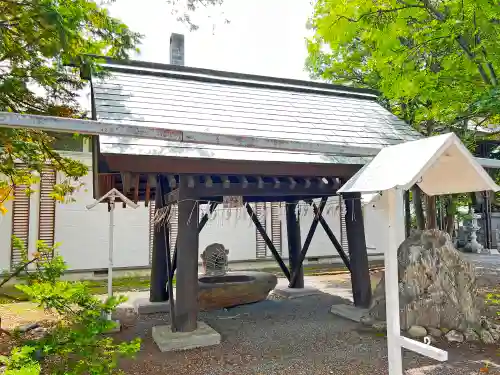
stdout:
[[54,246],[56,201],[50,196],[56,184],[56,171],[47,167],[40,174],[40,212],[38,239],[47,246]]

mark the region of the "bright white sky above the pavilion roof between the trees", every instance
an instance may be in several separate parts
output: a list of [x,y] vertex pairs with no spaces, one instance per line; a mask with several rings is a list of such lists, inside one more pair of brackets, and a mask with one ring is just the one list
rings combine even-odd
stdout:
[[170,34],[176,32],[185,35],[187,66],[308,79],[304,62],[310,0],[224,0],[221,7],[193,14],[200,25],[193,32],[176,21],[166,0],[116,0],[109,11],[144,35],[134,59],[169,63]]

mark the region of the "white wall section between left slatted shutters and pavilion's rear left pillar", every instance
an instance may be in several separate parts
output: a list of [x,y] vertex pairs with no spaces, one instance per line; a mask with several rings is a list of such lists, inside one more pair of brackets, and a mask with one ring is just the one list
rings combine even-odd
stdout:
[[[90,155],[81,158],[91,164]],[[58,176],[61,178],[61,176]],[[85,184],[73,195],[74,202],[56,204],[55,242],[71,270],[106,268],[109,247],[109,213],[106,204],[92,210],[94,202],[92,171],[83,178]],[[148,209],[115,208],[114,264],[115,267],[145,267],[149,265]]]

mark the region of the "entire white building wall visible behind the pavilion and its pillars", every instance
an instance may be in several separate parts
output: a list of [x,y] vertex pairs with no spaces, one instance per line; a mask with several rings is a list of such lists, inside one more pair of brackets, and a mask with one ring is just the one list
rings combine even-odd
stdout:
[[[91,165],[90,153],[71,155]],[[59,250],[71,270],[92,270],[107,268],[108,263],[108,234],[109,214],[107,205],[101,204],[87,210],[86,205],[94,201],[92,197],[92,173],[84,177],[85,186],[73,198],[75,202],[57,203],[55,208],[55,242],[60,243]],[[58,176],[60,179],[61,176]],[[30,235],[29,247],[33,246],[38,236],[38,207],[39,195],[31,197]],[[319,203],[319,202],[318,202]],[[12,209],[8,203],[9,211],[0,220],[0,269],[10,267],[10,242],[12,234]],[[200,217],[206,208],[200,209]],[[371,253],[382,253],[387,239],[380,236],[384,226],[382,216],[373,205],[364,206],[364,221],[366,242]],[[271,236],[271,208],[266,209],[266,227]],[[282,255],[288,258],[288,243],[286,231],[285,205],[282,204],[281,212],[281,238]],[[333,233],[340,242],[340,210],[338,198],[332,198],[327,203],[323,216],[330,225]],[[307,233],[312,223],[314,213],[311,207],[301,208],[301,238],[305,242]],[[256,260],[256,229],[246,210],[227,210],[220,205],[215,214],[208,220],[200,235],[200,253],[211,243],[222,243],[229,249],[229,261]],[[149,266],[149,210],[144,203],[136,210],[116,206],[115,210],[115,267],[142,268]],[[318,224],[314,234],[307,258],[337,256],[337,251],[331,244],[321,224]],[[269,260],[272,255],[267,252]]]

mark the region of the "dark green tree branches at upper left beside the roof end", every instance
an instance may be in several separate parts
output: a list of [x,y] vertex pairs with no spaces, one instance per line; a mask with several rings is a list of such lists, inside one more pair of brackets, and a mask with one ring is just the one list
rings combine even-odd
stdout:
[[[83,117],[78,65],[95,65],[89,54],[127,58],[139,38],[93,0],[0,0],[0,111]],[[54,198],[79,186],[87,167],[54,151],[53,142],[44,132],[0,128],[0,211],[13,186],[29,192],[47,163],[68,177]]]

